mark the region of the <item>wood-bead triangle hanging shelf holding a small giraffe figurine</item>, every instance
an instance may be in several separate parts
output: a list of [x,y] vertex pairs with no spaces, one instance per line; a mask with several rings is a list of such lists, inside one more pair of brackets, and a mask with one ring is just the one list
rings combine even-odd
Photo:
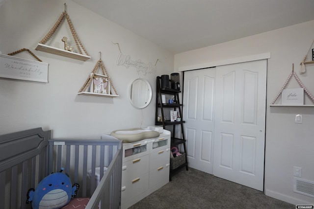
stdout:
[[[73,47],[69,46],[67,43],[67,37],[62,38],[62,42],[64,42],[64,49],[56,48],[53,46],[48,46],[46,43],[50,40],[54,32],[57,30],[57,28],[60,26],[60,24],[64,21],[64,19],[67,20],[69,28],[71,30],[73,39],[75,41],[75,44],[78,48],[79,53],[73,52]],[[64,57],[69,57],[81,61],[86,61],[90,59],[91,57],[87,53],[86,49],[82,45],[81,41],[78,38],[78,34],[76,33],[74,26],[70,20],[70,17],[68,13],[66,12],[66,4],[64,3],[64,12],[60,15],[59,19],[54,23],[50,31],[46,34],[46,36],[38,43],[37,47],[35,48],[38,51],[44,51],[51,54],[56,54]],[[85,55],[82,53],[82,50],[85,52]]]

